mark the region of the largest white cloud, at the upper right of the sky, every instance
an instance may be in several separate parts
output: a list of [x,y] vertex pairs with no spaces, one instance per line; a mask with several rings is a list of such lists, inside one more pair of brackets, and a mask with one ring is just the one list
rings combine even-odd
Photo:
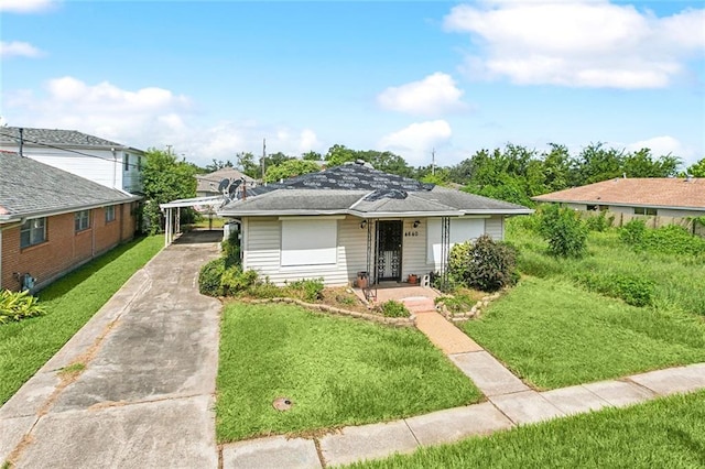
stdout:
[[660,88],[705,52],[705,10],[658,18],[607,0],[486,1],[458,6],[444,25],[469,33],[479,54],[466,74],[521,85]]

